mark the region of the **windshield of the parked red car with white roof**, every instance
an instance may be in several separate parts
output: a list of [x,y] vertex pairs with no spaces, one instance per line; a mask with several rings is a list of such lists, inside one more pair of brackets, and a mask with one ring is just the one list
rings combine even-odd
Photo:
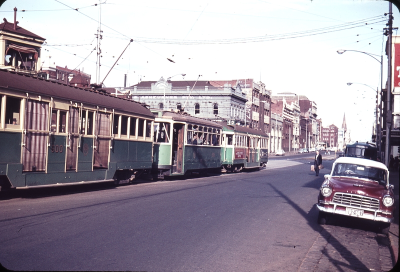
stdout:
[[386,171],[384,169],[369,167],[360,164],[337,163],[332,175],[355,176],[368,178],[386,184]]

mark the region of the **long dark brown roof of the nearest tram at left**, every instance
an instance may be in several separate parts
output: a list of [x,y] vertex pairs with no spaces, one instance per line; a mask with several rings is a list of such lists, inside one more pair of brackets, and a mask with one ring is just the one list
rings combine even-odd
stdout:
[[35,93],[52,98],[60,98],[109,109],[132,112],[143,117],[154,118],[151,111],[133,100],[128,100],[107,93],[80,88],[59,82],[42,79],[22,73],[0,69],[0,88],[8,88],[16,91]]

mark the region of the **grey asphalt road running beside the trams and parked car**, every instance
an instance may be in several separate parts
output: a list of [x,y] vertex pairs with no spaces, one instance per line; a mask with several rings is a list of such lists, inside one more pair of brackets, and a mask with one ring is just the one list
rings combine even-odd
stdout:
[[[381,269],[385,247],[371,225],[316,223],[318,188],[332,161],[315,176],[310,159],[271,158],[263,170],[219,176],[2,195],[0,263],[13,270]],[[343,230],[355,232],[341,239]],[[359,244],[351,247],[365,235],[367,250],[376,250],[372,257],[364,249],[367,261]],[[331,266],[318,266],[326,255]]]

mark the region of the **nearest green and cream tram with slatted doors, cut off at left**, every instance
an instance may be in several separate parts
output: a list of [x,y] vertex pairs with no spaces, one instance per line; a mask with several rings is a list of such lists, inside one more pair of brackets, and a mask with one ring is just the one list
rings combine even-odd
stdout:
[[127,182],[150,170],[142,104],[0,69],[2,188]]

